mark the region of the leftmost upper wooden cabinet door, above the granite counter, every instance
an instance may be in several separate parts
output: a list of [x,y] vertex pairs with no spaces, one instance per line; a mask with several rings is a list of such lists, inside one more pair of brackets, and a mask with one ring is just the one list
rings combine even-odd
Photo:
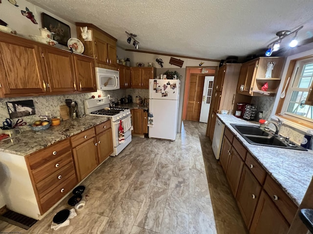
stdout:
[[[10,36],[10,35],[9,35]],[[26,39],[0,38],[0,82],[4,97],[45,94],[39,48]]]

